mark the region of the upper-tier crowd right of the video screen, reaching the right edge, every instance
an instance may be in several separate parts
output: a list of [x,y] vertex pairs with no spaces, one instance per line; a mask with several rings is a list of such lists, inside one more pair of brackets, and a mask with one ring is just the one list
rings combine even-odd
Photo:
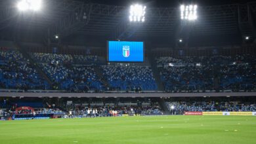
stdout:
[[156,58],[161,80],[169,92],[255,90],[255,60],[251,55]]

